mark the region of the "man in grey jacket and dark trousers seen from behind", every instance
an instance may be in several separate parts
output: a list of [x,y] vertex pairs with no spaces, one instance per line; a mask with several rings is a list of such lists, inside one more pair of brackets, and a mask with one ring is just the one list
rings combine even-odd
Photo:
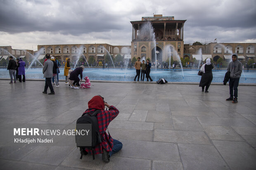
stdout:
[[53,62],[50,60],[50,54],[46,54],[45,58],[47,59],[45,61],[45,64],[43,66],[43,77],[45,78],[45,89],[43,91],[43,94],[47,94],[48,87],[50,88],[50,93],[48,94],[55,94],[53,87],[52,87],[52,69],[53,69]]

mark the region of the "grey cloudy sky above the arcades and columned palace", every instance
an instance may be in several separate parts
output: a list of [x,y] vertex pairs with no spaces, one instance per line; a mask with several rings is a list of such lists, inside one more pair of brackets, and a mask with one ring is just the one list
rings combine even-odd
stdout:
[[0,46],[130,45],[142,16],[187,20],[184,41],[256,43],[256,0],[0,0]]

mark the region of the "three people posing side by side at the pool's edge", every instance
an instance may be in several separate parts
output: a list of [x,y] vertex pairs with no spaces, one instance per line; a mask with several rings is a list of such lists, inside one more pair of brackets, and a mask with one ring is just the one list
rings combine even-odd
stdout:
[[[134,81],[136,81],[136,78],[138,77],[137,81],[144,81],[145,74],[147,81],[153,81],[152,78],[149,76],[150,74],[150,68],[151,68],[151,63],[149,60],[147,60],[147,63],[145,64],[145,60],[142,60],[142,63],[140,62],[140,57],[138,57],[138,60],[135,62],[134,67],[136,69],[136,76],[134,78]],[[141,70],[141,71],[140,71]],[[141,77],[140,77],[140,72],[141,72]],[[143,79],[142,79],[143,76]]]

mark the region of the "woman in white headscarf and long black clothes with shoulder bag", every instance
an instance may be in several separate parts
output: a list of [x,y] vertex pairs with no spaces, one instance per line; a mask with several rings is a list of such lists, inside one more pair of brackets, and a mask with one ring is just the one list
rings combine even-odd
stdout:
[[206,86],[205,92],[208,93],[209,86],[213,80],[212,69],[213,65],[211,64],[211,59],[207,58],[206,63],[201,67],[201,72],[203,72],[203,74],[199,83],[199,87],[202,87],[202,92],[204,92],[204,86]]

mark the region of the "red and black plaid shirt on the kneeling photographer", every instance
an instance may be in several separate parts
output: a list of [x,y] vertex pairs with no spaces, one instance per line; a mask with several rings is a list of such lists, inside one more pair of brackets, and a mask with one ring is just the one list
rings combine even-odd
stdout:
[[[84,113],[93,113],[95,108],[88,108]],[[97,114],[100,135],[102,136],[102,142],[97,145],[94,149],[94,154],[102,154],[103,149],[107,152],[112,151],[113,148],[113,139],[111,136],[107,135],[106,130],[109,123],[119,114],[119,110],[114,106],[110,106],[109,110],[101,110]],[[92,154],[90,149],[85,148],[85,151]]]

